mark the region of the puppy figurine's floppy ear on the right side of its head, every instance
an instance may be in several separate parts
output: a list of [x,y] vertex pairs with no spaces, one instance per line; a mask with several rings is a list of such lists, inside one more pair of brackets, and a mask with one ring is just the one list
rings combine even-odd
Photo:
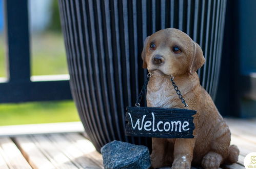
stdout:
[[194,54],[193,54],[190,68],[189,68],[190,74],[193,74],[194,72],[196,72],[205,63],[205,58],[204,58],[204,54],[201,47],[198,44],[196,44],[194,41],[193,43],[194,43]]

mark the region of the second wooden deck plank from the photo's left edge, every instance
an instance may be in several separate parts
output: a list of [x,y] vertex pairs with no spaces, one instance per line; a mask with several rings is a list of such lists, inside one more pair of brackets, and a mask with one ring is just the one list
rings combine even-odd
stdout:
[[55,168],[29,136],[17,136],[14,140],[33,168]]

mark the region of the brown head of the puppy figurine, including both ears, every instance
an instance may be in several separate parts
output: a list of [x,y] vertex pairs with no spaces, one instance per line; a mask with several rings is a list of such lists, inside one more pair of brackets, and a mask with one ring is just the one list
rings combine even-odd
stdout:
[[168,28],[157,31],[144,41],[143,68],[160,70],[165,75],[193,74],[204,65],[203,51],[186,33]]

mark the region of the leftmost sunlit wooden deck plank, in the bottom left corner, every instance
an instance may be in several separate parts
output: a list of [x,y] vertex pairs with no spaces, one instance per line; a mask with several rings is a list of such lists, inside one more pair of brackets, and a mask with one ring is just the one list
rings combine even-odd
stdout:
[[10,138],[0,138],[1,155],[9,168],[31,168]]

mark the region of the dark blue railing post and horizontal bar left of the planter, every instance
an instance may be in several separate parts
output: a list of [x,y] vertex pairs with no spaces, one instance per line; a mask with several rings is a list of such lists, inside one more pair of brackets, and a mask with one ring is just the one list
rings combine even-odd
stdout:
[[7,79],[0,82],[0,102],[71,99],[67,78],[31,80],[28,0],[4,0],[4,12]]

